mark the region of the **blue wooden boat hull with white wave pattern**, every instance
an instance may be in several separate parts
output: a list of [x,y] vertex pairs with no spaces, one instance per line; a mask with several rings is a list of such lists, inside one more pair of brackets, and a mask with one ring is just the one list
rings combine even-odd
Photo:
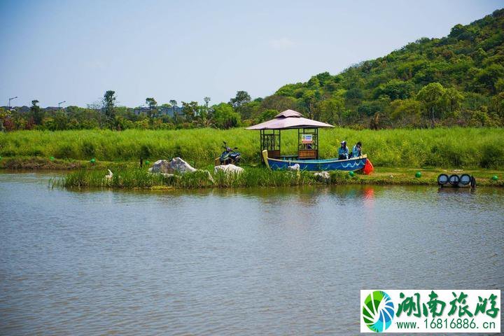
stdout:
[[309,171],[331,171],[343,170],[345,172],[356,171],[363,169],[367,161],[367,155],[360,155],[358,158],[351,158],[348,160],[325,159],[325,160],[282,160],[268,158],[267,150],[262,151],[262,158],[269,169],[288,169],[293,165],[299,165],[300,170]]

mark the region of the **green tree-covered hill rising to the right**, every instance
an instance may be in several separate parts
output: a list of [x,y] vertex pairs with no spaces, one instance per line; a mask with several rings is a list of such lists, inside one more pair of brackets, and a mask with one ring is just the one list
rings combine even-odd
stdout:
[[298,109],[354,127],[502,126],[504,9],[443,38],[420,38],[377,59],[280,87],[241,107],[242,118]]

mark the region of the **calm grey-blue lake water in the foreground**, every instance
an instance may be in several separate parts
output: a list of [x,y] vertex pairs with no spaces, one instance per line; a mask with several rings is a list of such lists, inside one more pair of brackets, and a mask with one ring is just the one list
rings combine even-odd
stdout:
[[0,174],[1,335],[355,335],[359,290],[502,289],[504,190],[128,192]]

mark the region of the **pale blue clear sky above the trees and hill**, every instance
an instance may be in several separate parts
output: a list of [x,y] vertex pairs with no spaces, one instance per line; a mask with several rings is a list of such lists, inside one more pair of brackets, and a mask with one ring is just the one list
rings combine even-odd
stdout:
[[442,37],[504,1],[0,0],[0,105],[228,102]]

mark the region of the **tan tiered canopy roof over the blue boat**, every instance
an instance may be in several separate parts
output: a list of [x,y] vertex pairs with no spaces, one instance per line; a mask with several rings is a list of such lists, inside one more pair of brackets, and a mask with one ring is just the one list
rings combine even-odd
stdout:
[[265,121],[258,125],[247,127],[246,130],[289,130],[296,128],[318,128],[334,127],[330,124],[320,121],[304,118],[301,113],[293,110],[283,111],[275,116],[274,119]]

